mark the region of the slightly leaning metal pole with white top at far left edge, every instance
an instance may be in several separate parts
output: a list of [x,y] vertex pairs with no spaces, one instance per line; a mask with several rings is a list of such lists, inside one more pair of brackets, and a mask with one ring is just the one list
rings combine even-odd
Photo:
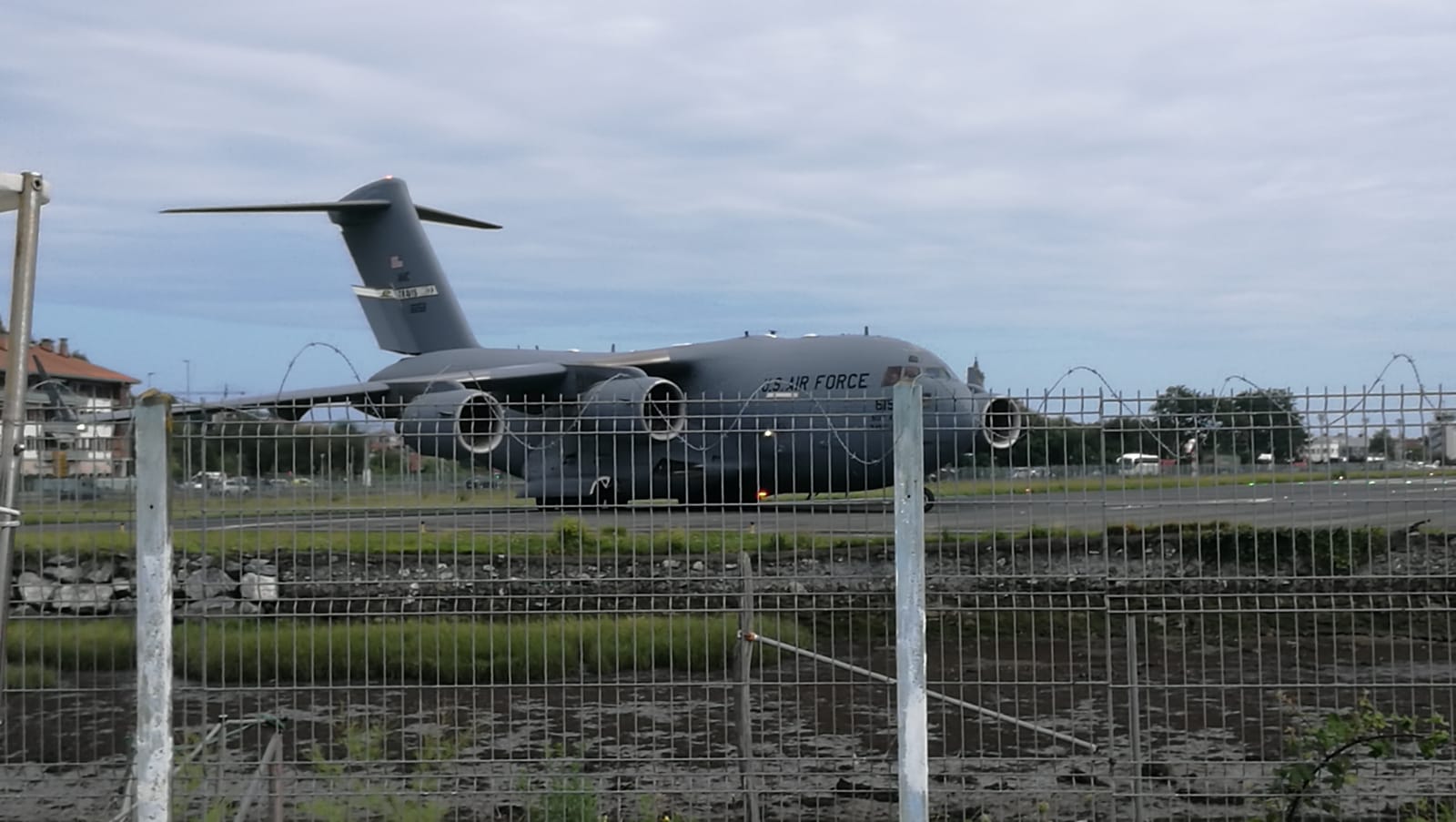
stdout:
[[31,382],[31,308],[35,305],[35,258],[41,240],[41,206],[50,203],[35,172],[0,173],[0,211],[16,211],[15,267],[10,280],[10,340],[6,345],[4,408],[0,410],[0,716],[4,708],[6,638],[10,622],[10,548],[20,512],[15,507],[25,459],[25,395]]

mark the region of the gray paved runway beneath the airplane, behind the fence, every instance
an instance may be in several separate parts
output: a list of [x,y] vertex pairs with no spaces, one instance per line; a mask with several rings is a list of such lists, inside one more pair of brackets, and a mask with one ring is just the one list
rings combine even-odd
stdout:
[[[622,509],[529,507],[320,510],[301,514],[227,514],[175,523],[179,529],[345,531],[386,528],[540,532],[563,516],[593,528],[629,531],[801,531],[818,533],[891,533],[888,498],[866,501],[763,503],[743,507]],[[1233,522],[1273,526],[1383,526],[1456,531],[1456,480],[1358,480],[1278,485],[1182,488],[1108,487],[1092,493],[996,494],[939,498],[925,514],[926,532],[1021,531],[1032,526],[1101,529],[1120,523]]]

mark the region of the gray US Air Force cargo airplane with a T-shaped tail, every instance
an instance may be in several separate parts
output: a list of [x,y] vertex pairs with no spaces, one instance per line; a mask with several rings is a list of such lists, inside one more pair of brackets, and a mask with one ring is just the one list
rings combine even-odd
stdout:
[[[322,211],[339,226],[379,347],[397,363],[355,385],[192,407],[268,410],[298,420],[348,404],[393,418],[424,455],[504,471],[542,506],[748,503],[894,484],[891,389],[917,379],[926,468],[1010,447],[1022,410],[957,379],[930,351],[888,337],[748,335],[639,351],[482,347],[422,222],[498,229],[416,206],[383,178],[338,201],[167,208]],[[185,407],[183,407],[185,408]]]

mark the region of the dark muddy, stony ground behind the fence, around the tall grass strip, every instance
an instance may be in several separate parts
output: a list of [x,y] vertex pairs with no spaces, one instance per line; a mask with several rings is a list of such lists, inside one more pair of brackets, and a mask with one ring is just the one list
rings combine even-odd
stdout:
[[[264,558],[284,590],[271,612],[332,618],[735,609],[743,584],[735,557]],[[1456,714],[1444,544],[1402,544],[1325,577],[1211,565],[1166,542],[1037,541],[929,564],[930,688],[1098,745],[932,701],[939,818],[1123,819],[1140,806],[1146,819],[1249,819],[1274,788],[1283,729],[1361,692],[1386,711]],[[775,552],[754,577],[759,608],[812,625],[814,650],[894,673],[885,552]],[[12,692],[0,818],[115,813],[132,688],[127,673],[80,673]],[[668,670],[480,686],[178,682],[175,721],[186,742],[224,714],[280,720],[290,819],[738,819],[735,694],[731,672]],[[754,666],[751,705],[748,781],[764,819],[894,816],[893,686],[786,656]],[[240,796],[271,733],[245,727],[179,772],[194,797],[179,818]],[[1361,762],[1341,796],[1350,818],[1456,784],[1449,755],[1405,754]]]

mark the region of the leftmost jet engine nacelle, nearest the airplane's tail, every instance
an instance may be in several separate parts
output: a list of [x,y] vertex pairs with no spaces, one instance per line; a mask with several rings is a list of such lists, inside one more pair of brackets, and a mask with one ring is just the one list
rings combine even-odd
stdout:
[[419,453],[462,459],[501,445],[505,412],[498,399],[480,391],[421,394],[400,414],[399,433]]

